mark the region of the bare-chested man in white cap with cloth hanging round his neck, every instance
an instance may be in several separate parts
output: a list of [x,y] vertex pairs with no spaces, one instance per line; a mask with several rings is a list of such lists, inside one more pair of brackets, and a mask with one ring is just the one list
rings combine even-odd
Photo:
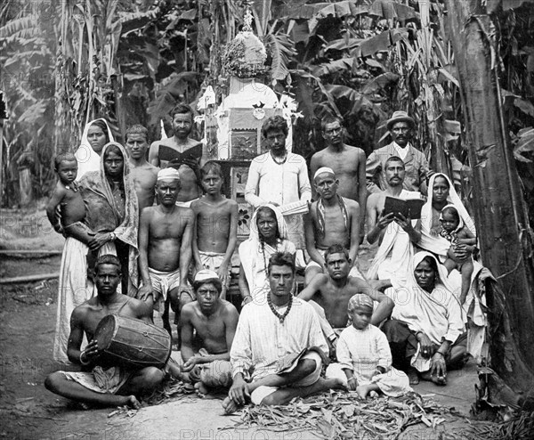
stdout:
[[351,276],[362,275],[356,265],[360,246],[360,205],[337,194],[339,181],[332,168],[319,168],[313,176],[319,200],[314,201],[304,216],[306,249],[312,261],[306,266],[304,284],[307,286],[325,267],[325,251],[339,243],[349,249]]

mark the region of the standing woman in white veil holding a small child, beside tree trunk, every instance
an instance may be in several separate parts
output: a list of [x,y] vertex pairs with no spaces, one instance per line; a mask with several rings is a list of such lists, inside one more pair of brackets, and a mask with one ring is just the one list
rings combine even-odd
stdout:
[[[462,200],[460,200],[457,191],[454,189],[454,185],[447,175],[436,173],[430,178],[428,201],[421,209],[421,240],[417,242],[417,247],[432,252],[438,257],[440,265],[447,258],[447,252],[450,248],[449,240],[440,235],[440,213],[441,209],[449,204],[457,208],[465,226],[476,237],[473,219],[467,213]],[[462,254],[458,254],[458,257],[465,257],[473,252],[473,247],[467,245],[459,245],[459,247]],[[445,273],[447,272],[445,271]],[[483,288],[480,281],[488,277],[492,278],[490,271],[477,261],[473,261],[473,275],[463,306],[463,317],[468,329],[467,351],[476,359],[481,356],[485,327],[487,325],[486,314],[483,312],[486,301],[485,297],[480,294]],[[459,298],[462,289],[462,274],[455,269],[446,276],[446,281],[450,290]]]

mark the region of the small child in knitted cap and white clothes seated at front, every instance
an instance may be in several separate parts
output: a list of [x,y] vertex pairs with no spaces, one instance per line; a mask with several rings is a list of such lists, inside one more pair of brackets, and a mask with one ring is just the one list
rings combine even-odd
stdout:
[[375,391],[392,397],[412,391],[408,376],[392,367],[392,352],[382,330],[370,323],[373,300],[358,293],[347,307],[352,326],[337,340],[338,363],[327,368],[327,379],[344,380],[350,390],[365,399]]

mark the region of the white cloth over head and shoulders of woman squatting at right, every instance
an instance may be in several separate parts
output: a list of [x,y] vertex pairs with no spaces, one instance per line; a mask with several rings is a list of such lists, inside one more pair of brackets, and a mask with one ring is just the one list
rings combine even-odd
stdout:
[[[431,293],[419,287],[414,271],[425,257],[431,257],[438,266],[439,280]],[[423,331],[434,344],[443,338],[454,343],[464,332],[460,303],[449,290],[447,269],[429,252],[418,252],[411,258],[408,279],[399,282],[392,279],[392,288],[385,293],[392,297],[395,306],[392,319],[406,322],[409,330]]]

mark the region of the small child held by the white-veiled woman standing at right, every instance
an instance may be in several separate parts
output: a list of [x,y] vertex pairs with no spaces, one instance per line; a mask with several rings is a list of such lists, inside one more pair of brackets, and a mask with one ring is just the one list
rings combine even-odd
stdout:
[[449,273],[457,269],[462,273],[462,291],[460,293],[460,304],[464,306],[465,298],[471,286],[471,276],[473,275],[473,256],[471,253],[464,258],[458,258],[455,254],[458,245],[473,246],[476,244],[476,237],[469,228],[465,227],[462,217],[459,215],[454,205],[447,205],[441,209],[441,237],[450,241],[450,248],[447,252],[447,259],[443,265],[447,267]]

